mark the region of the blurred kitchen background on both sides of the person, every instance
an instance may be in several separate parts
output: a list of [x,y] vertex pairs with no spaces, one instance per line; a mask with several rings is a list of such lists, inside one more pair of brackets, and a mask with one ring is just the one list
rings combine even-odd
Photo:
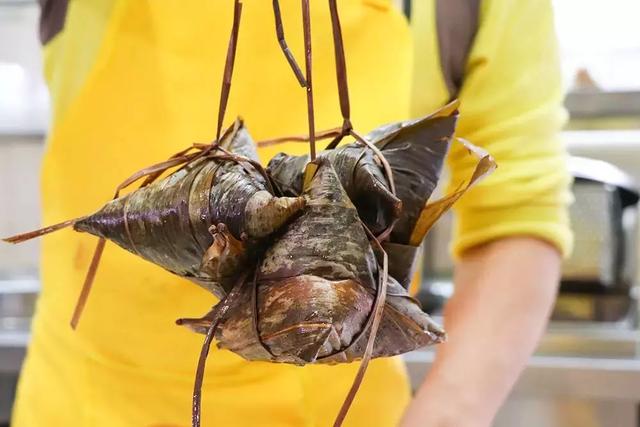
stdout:
[[[401,2],[399,2],[401,3]],[[553,320],[497,426],[640,426],[640,2],[556,0],[572,156],[576,250]],[[35,1],[0,0],[0,236],[40,225],[48,127]],[[451,218],[429,235],[420,297],[452,292]],[[0,425],[10,414],[38,284],[38,242],[0,245]],[[414,381],[433,354],[406,356]]]

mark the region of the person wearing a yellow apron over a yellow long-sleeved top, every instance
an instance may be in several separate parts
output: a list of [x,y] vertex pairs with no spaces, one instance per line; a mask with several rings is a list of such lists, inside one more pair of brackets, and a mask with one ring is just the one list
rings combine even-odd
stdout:
[[[306,99],[275,38],[270,2],[244,0],[227,117],[256,139],[306,133]],[[367,131],[425,115],[451,97],[435,0],[413,2],[410,30],[390,0],[340,2],[352,121]],[[571,246],[565,115],[550,1],[484,0],[460,87],[458,135],[499,168],[464,196],[453,237],[449,340],[411,400],[401,358],[374,360],[351,426],[488,426],[539,339]],[[299,2],[281,5],[302,52]],[[42,166],[43,221],[101,206],[131,172],[215,134],[232,2],[44,1],[52,126]],[[312,2],[316,128],[341,123],[326,2]],[[413,34],[412,34],[413,31]],[[414,61],[415,59],[415,61]],[[231,120],[231,119],[229,119]],[[303,153],[303,144],[261,149]],[[471,167],[452,149],[452,182]],[[68,326],[95,239],[42,246],[42,293],[13,411],[14,427],[189,425],[202,337],[173,325],[211,296],[107,245],[77,331]],[[325,426],[357,364],[295,367],[212,350],[203,424]]]

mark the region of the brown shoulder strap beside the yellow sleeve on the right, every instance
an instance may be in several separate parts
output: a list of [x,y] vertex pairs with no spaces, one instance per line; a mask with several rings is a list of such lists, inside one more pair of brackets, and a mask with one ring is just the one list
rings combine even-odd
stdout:
[[436,0],[436,24],[442,75],[456,98],[479,24],[481,0]]

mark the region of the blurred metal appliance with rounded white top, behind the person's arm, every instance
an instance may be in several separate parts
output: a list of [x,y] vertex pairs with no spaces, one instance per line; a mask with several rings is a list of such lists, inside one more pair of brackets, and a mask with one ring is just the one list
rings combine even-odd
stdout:
[[[571,157],[575,234],[572,256],[562,266],[562,286],[554,320],[635,321],[634,285],[638,261],[638,187],[628,174],[599,160]],[[437,311],[450,293],[452,264],[444,250],[451,217],[427,238],[425,287],[428,311]]]

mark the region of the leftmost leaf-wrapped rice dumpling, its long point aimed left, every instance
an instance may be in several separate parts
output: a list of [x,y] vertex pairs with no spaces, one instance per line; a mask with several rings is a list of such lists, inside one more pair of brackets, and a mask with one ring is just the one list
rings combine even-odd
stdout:
[[[135,173],[118,187],[116,198],[96,213],[10,241],[20,242],[73,226],[76,231],[108,239],[221,297],[230,290],[234,275],[250,260],[252,251],[304,206],[302,197],[275,197],[256,159],[255,144],[242,121],[237,120],[219,144],[196,144],[168,161]],[[176,166],[180,168],[158,180]],[[142,178],[145,181],[141,188],[119,196],[121,189]],[[217,226],[216,242],[209,232],[211,226]],[[222,258],[214,260],[217,251]],[[95,275],[98,260],[99,255],[94,256],[87,277]],[[85,283],[83,295],[91,280]],[[78,307],[83,305],[80,301]]]

